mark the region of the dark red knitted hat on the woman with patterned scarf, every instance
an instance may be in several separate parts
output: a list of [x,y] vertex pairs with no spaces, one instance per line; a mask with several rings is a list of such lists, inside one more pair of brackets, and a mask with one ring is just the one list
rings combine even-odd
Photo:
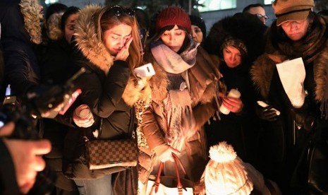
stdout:
[[161,28],[164,28],[168,25],[180,25],[185,28],[188,32],[191,30],[191,24],[188,14],[183,11],[183,9],[170,6],[164,8],[156,20],[156,31],[159,32]]

